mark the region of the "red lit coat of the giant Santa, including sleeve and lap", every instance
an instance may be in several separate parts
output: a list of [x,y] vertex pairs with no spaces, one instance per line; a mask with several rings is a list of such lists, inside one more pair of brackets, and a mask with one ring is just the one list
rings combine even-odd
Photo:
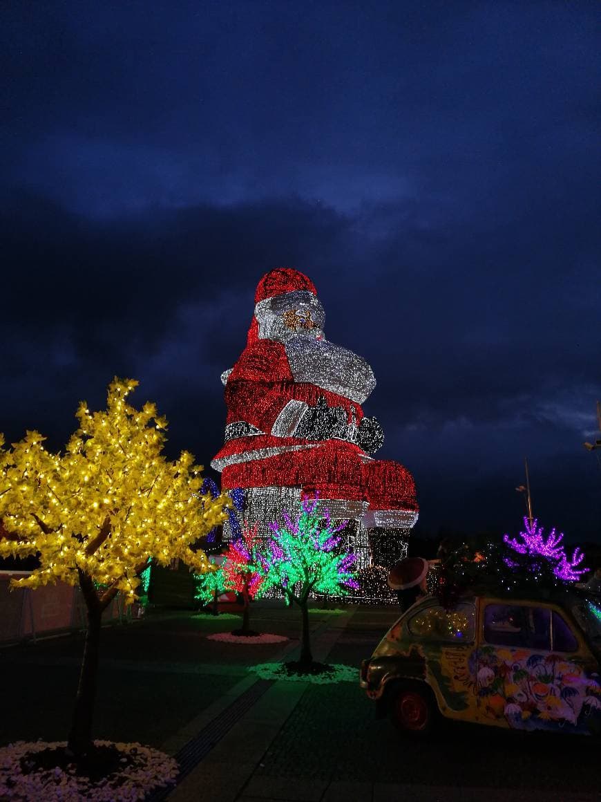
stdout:
[[324,398],[343,407],[349,424],[361,423],[361,406],[315,384],[295,381],[283,343],[251,342],[233,367],[225,387],[227,424],[244,422],[257,431],[228,439],[212,460],[222,471],[222,487],[300,487],[321,499],[363,500],[372,510],[417,510],[413,477],[402,465],[373,460],[343,439],[321,441],[272,434],[280,412],[292,399],[314,407]]

